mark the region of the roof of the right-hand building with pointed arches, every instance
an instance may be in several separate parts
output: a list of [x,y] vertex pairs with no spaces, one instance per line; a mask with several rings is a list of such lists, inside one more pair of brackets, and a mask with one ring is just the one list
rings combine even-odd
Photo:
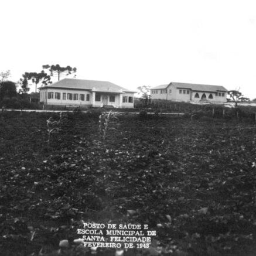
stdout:
[[151,89],[166,89],[168,86],[172,84],[176,88],[186,88],[186,89],[191,89],[193,91],[227,91],[227,89],[223,86],[210,86],[207,84],[190,84],[190,83],[176,83],[176,82],[171,82],[169,84],[165,84],[162,86],[156,86]]

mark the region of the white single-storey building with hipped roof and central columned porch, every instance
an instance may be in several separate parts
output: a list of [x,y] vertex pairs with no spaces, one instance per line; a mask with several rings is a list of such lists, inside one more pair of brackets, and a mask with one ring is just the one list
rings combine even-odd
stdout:
[[107,81],[64,78],[39,88],[40,103],[74,107],[133,108],[134,93]]

